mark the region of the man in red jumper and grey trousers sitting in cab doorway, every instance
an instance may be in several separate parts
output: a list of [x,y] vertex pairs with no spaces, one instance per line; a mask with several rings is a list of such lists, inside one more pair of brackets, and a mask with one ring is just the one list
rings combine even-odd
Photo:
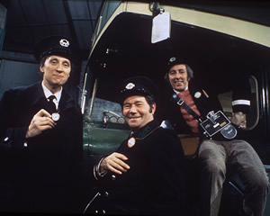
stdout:
[[[199,121],[194,116],[205,119],[211,112],[221,111],[221,105],[216,94],[206,93],[205,90],[193,83],[193,70],[180,58],[170,58],[166,81],[171,86],[166,95],[165,119],[169,120],[178,133],[192,133],[201,136],[198,150],[200,172],[200,211],[201,215],[218,215],[222,185],[229,174],[238,173],[245,185],[244,211],[247,215],[262,216],[268,193],[268,177],[266,170],[257,156],[256,151],[244,140],[223,139],[220,133],[211,137],[203,136]],[[245,82],[244,79],[241,82]],[[244,84],[244,83],[243,83]],[[248,91],[250,86],[245,83],[241,93],[232,95],[232,123],[239,127],[246,124],[245,113],[250,109]],[[249,87],[249,89],[248,89]],[[184,104],[173,103],[172,94],[177,94],[195,114],[187,112]]]

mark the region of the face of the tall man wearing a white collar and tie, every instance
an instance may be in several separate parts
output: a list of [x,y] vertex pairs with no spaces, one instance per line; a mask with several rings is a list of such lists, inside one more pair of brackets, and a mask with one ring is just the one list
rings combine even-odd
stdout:
[[49,56],[40,67],[43,74],[43,82],[46,87],[57,88],[67,82],[71,70],[69,59],[59,56]]

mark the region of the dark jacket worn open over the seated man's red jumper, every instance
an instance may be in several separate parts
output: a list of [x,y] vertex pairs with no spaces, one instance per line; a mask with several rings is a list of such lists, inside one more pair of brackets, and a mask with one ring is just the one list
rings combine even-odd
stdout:
[[[242,80],[242,85],[233,89],[232,93],[232,110],[233,112],[250,112],[250,105],[241,102],[250,103],[250,85],[248,80]],[[208,112],[222,111],[222,107],[218,98],[218,93],[210,92],[207,89],[197,87],[191,82],[188,85],[193,101],[196,104],[198,110],[201,112],[201,118],[204,120]],[[162,97],[162,108],[159,112],[160,120],[168,120],[175,128],[177,133],[190,134],[192,131],[184,121],[183,115],[180,112],[180,106],[177,103],[173,103],[170,99],[172,94],[175,93],[172,89],[166,91]]]

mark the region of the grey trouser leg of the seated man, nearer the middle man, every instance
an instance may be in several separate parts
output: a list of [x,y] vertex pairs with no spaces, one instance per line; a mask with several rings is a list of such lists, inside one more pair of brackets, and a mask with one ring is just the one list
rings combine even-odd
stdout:
[[226,152],[219,141],[203,140],[198,152],[201,215],[217,216],[226,177]]

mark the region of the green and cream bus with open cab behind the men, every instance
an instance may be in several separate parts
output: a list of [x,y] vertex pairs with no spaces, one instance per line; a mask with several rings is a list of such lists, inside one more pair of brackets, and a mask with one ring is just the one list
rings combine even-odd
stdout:
[[[252,112],[247,114],[244,137],[269,175],[269,6],[265,2],[243,6],[222,1],[104,1],[80,97],[85,163],[94,164],[111,153],[130,133],[115,97],[117,86],[130,76],[148,76],[162,89],[166,61],[177,53],[193,67],[196,79],[216,89],[228,117],[232,113],[230,83],[240,81],[236,72],[249,77]],[[183,137],[181,140],[184,143]],[[193,144],[185,148],[192,151]],[[238,215],[242,185],[237,176],[226,184],[220,215]],[[269,199],[265,215],[270,214]]]

